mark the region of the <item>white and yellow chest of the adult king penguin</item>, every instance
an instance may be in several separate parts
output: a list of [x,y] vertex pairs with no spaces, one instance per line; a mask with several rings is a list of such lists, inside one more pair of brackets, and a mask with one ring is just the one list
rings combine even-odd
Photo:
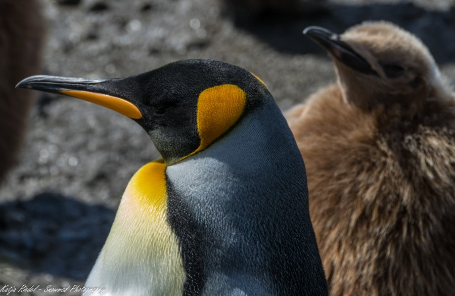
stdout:
[[151,162],[133,176],[85,287],[103,286],[103,296],[181,295],[185,272],[166,221],[165,167]]

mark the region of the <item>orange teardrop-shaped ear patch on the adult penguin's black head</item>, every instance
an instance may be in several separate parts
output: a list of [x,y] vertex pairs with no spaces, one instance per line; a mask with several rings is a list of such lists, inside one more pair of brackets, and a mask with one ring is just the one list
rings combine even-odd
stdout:
[[198,149],[184,158],[204,150],[227,132],[242,116],[246,102],[246,93],[234,84],[222,84],[204,90],[199,95],[197,110],[201,143]]

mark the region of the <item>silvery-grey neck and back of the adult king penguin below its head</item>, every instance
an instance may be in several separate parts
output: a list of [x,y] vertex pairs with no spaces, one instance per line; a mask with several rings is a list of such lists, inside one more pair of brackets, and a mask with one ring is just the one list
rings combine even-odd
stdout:
[[246,115],[206,150],[168,166],[166,176],[186,290],[327,294],[304,164],[274,103]]

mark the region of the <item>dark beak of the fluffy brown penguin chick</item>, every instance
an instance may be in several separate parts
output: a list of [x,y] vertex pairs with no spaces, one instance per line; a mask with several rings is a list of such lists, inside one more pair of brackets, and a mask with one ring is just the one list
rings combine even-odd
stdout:
[[303,30],[303,34],[307,35],[311,40],[327,50],[334,58],[352,69],[363,74],[378,76],[378,73],[372,69],[366,59],[357,54],[348,44],[341,41],[339,34],[317,26],[306,27]]

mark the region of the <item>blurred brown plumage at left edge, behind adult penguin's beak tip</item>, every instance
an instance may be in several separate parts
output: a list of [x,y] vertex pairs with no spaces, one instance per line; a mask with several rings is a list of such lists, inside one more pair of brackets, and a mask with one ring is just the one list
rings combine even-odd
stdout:
[[39,1],[0,0],[0,181],[17,162],[34,93],[14,87],[40,66]]

